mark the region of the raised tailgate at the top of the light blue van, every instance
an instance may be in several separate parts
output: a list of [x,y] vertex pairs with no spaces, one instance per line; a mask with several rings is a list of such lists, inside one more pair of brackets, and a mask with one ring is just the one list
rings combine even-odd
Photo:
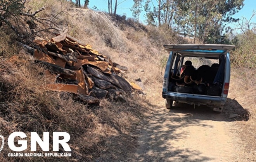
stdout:
[[166,44],[164,48],[167,51],[226,53],[234,49],[235,46],[228,44]]

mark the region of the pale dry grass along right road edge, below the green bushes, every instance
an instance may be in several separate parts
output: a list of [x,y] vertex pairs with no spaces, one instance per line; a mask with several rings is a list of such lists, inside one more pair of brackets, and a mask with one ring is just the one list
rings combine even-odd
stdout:
[[249,120],[237,122],[240,137],[244,143],[245,160],[256,159],[256,71],[251,69],[232,69],[229,98],[237,100],[249,112]]

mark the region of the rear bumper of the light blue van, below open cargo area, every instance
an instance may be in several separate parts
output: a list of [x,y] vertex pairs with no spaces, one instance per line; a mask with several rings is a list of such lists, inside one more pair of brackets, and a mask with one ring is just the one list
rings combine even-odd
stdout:
[[186,103],[200,103],[203,105],[224,105],[226,98],[206,95],[163,92],[163,98]]

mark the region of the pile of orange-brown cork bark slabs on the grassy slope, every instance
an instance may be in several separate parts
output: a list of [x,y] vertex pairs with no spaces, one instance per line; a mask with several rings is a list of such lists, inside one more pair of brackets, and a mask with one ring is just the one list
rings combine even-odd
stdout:
[[118,99],[132,90],[141,90],[119,74],[128,68],[112,62],[92,46],[67,35],[67,30],[50,40],[35,40],[37,63],[45,67],[46,88],[75,94],[95,103],[101,98]]

